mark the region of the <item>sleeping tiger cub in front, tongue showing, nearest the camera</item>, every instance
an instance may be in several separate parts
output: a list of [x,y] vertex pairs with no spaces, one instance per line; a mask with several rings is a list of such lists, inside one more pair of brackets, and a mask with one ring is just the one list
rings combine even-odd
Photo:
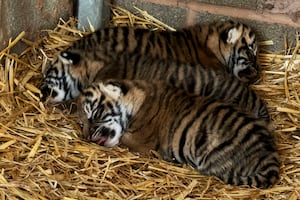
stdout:
[[234,105],[163,82],[111,79],[86,88],[78,107],[84,136],[99,145],[156,150],[234,185],[265,188],[279,178],[270,123]]

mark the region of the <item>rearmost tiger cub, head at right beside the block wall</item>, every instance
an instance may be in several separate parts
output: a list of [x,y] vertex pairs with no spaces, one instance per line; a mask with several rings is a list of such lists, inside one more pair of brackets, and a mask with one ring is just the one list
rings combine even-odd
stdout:
[[256,36],[250,27],[234,21],[195,25],[175,32],[104,28],[75,42],[71,49],[127,51],[201,64],[233,74],[244,82],[258,79]]

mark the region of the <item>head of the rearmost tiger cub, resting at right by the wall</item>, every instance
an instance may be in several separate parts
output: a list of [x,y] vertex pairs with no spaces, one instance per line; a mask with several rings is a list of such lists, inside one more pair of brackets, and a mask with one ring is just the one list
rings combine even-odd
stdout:
[[253,30],[242,23],[229,21],[218,27],[220,54],[228,67],[243,82],[254,82],[259,78],[257,44]]

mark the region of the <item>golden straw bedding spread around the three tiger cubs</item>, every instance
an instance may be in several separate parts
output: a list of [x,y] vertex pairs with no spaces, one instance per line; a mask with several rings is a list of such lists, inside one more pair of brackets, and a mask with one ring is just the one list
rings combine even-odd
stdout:
[[[165,27],[117,8],[112,22]],[[38,85],[48,59],[84,34],[74,19],[60,20],[47,36],[32,42],[21,33],[0,51],[1,199],[300,198],[299,35],[294,48],[259,54],[262,80],[253,87],[270,110],[282,161],[280,181],[260,190],[225,185],[155,153],[146,158],[83,141],[73,105],[44,105]],[[11,54],[18,42],[28,48]]]

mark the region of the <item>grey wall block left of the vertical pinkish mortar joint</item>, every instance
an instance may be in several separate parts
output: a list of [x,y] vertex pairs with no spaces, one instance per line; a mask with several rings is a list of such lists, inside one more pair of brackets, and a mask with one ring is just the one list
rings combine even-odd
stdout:
[[147,11],[153,17],[159,19],[163,23],[173,28],[183,27],[185,25],[186,9],[183,8],[161,6],[158,4],[153,4],[148,2],[139,2],[137,0],[133,0],[133,1],[115,0],[114,4],[122,8],[126,8],[127,10],[133,13],[137,12],[136,9],[134,9],[134,6],[136,6],[139,9]]

